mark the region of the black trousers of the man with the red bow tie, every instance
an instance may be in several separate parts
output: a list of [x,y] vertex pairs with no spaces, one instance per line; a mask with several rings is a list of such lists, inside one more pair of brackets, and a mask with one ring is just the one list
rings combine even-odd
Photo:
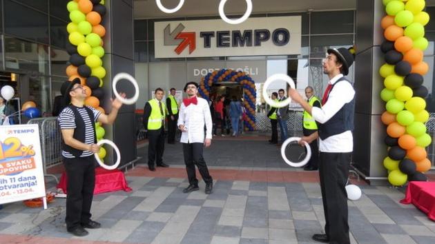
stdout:
[[213,183],[209,169],[202,156],[204,143],[183,143],[184,163],[186,164],[187,178],[190,185],[198,185],[196,179],[195,165],[198,167],[202,179],[206,184]]

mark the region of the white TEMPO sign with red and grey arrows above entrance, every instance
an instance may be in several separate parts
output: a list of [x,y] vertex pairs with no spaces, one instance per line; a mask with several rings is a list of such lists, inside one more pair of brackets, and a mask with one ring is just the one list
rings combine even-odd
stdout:
[[155,58],[300,54],[301,17],[249,18],[238,25],[221,19],[154,23]]

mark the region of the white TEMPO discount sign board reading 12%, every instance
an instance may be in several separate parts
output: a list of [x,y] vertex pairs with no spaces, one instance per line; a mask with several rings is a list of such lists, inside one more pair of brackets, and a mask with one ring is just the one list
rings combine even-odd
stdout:
[[46,196],[38,125],[0,126],[0,204]]

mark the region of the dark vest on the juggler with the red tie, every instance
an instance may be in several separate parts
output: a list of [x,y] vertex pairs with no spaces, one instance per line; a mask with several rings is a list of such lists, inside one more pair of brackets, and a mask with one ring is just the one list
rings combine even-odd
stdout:
[[[332,89],[334,89],[334,86],[341,81],[348,81],[345,77],[342,77],[332,85],[331,90],[329,90],[329,93],[331,93]],[[329,96],[329,94],[327,94]],[[347,130],[354,130],[354,112],[355,112],[355,96],[354,98],[345,105],[342,106],[338,112],[332,116],[329,121],[326,123],[318,123],[318,133],[320,136],[320,139],[325,140],[329,136],[334,136],[336,134],[341,134],[342,132],[345,132]]]

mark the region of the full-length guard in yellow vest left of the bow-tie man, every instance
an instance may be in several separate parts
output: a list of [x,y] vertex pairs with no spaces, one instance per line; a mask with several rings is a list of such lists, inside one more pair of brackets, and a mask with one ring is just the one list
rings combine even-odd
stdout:
[[164,151],[164,119],[165,105],[162,103],[163,90],[157,88],[155,90],[155,99],[151,99],[145,103],[144,108],[144,128],[148,133],[148,168],[155,171],[157,167],[169,167],[163,163]]

